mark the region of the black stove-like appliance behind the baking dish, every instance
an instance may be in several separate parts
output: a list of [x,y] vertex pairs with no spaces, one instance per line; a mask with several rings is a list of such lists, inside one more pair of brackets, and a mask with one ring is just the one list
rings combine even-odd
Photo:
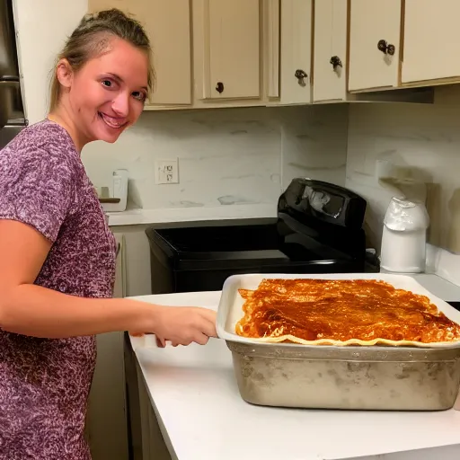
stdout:
[[299,178],[274,218],[149,227],[152,292],[220,290],[242,273],[364,272],[366,205],[351,190]]

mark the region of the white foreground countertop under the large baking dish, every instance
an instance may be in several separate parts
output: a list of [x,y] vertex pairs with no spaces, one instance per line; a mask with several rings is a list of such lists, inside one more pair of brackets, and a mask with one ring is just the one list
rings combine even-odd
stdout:
[[[460,288],[417,280],[435,296]],[[220,292],[135,297],[217,309]],[[240,397],[225,341],[165,349],[131,338],[164,439],[178,460],[451,460],[460,458],[460,411],[310,411],[253,406]]]

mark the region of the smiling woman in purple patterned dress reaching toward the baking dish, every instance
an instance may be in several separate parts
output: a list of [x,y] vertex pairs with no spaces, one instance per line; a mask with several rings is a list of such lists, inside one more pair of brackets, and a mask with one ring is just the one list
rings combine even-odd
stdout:
[[118,10],[87,15],[59,56],[48,119],[0,152],[0,458],[80,460],[94,334],[205,344],[215,313],[114,299],[115,241],[80,160],[115,142],[152,84],[146,33]]

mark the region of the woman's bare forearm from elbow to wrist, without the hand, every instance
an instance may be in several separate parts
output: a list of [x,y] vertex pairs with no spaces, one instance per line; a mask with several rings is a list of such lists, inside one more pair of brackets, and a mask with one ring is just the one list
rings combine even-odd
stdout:
[[24,284],[0,297],[0,328],[58,339],[114,331],[155,332],[162,308],[130,299],[69,296]]

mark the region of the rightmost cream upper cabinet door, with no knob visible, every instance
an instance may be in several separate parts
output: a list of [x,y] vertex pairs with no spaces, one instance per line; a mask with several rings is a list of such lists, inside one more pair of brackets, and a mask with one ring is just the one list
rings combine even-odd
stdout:
[[460,79],[459,0],[406,0],[402,82]]

